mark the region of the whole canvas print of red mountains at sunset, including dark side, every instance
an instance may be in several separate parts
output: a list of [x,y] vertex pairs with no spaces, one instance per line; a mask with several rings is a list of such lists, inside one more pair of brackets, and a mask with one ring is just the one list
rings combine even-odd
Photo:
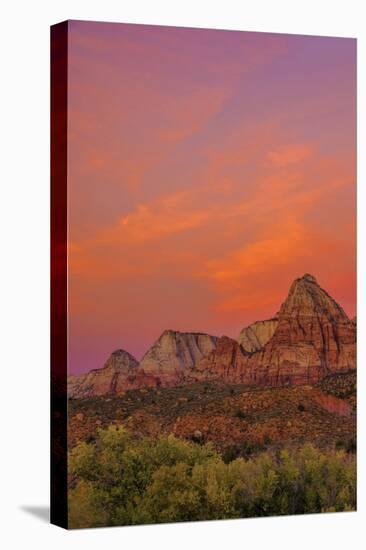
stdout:
[[356,509],[356,41],[51,29],[52,521]]

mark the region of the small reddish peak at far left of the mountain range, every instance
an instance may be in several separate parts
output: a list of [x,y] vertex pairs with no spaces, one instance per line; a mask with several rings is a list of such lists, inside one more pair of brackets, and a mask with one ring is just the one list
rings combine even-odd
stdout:
[[92,397],[119,393],[126,389],[154,385],[154,380],[139,369],[138,361],[127,351],[114,351],[104,367],[86,374],[69,376],[69,397]]

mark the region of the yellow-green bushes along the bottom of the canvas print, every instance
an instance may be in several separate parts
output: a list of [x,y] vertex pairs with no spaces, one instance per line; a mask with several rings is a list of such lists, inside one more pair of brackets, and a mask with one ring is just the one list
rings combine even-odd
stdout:
[[209,444],[110,426],[70,451],[69,470],[72,528],[356,507],[354,455],[310,444],[225,462]]

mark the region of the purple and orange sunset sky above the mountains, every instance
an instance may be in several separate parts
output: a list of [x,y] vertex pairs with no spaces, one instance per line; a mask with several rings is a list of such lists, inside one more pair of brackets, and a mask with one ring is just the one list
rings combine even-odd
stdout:
[[236,337],[304,273],[356,313],[356,41],[69,23],[71,373]]

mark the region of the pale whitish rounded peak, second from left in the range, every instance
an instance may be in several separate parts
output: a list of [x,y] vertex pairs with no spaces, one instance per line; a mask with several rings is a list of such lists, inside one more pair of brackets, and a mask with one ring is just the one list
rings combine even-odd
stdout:
[[194,365],[215,347],[216,336],[166,330],[143,357],[140,368],[153,376],[157,385],[181,384]]

